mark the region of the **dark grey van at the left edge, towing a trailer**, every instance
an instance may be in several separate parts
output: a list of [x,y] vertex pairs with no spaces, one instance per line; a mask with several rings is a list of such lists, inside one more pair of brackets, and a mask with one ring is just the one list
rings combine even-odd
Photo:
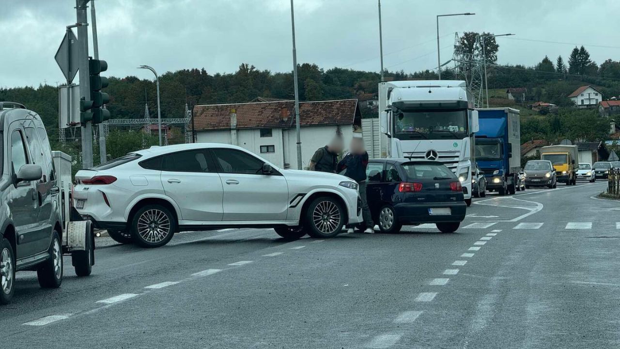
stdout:
[[[43,288],[58,288],[62,283],[60,202],[41,118],[22,104],[0,102],[0,304],[11,301],[15,271],[37,271]],[[82,240],[87,238],[84,235]],[[82,263],[79,274],[90,274],[92,254],[84,253],[88,267]]]

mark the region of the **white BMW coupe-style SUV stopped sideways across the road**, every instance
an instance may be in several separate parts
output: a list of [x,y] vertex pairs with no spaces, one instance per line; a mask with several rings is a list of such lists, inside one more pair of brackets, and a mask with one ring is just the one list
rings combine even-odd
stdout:
[[272,227],[283,238],[334,237],[361,222],[357,184],[280,170],[219,143],[151,147],[76,174],[74,206],[118,242],[161,247],[175,232]]

